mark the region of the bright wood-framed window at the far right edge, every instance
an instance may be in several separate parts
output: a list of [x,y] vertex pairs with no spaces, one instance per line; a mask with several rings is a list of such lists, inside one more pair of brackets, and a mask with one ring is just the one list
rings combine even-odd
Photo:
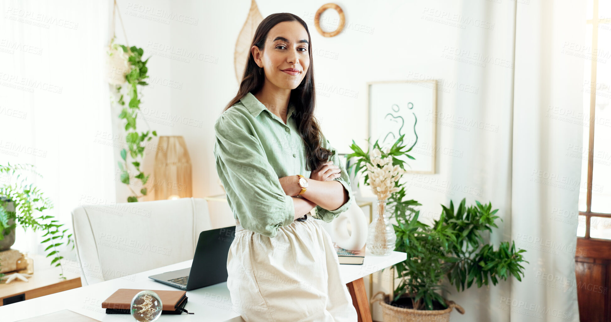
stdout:
[[[611,1],[588,4],[584,57],[584,143],[577,236],[611,240]],[[591,44],[591,45],[590,45]]]

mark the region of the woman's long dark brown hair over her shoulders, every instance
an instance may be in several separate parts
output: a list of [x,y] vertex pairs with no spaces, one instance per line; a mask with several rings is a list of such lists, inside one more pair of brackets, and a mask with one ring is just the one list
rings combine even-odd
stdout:
[[[309,171],[318,170],[322,163],[326,162],[329,156],[331,156],[331,150],[321,147],[322,137],[320,125],[318,125],[318,120],[316,120],[313,113],[316,101],[316,90],[314,86],[314,65],[311,49],[312,39],[310,38],[310,31],[307,29],[307,24],[305,24],[299,16],[293,15],[293,13],[274,13],[266,16],[257,27],[257,31],[255,31],[255,35],[252,38],[252,44],[249,48],[257,46],[263,51],[269,30],[283,21],[299,21],[307,32],[310,66],[301,84],[299,84],[296,89],[291,90],[289,101],[295,105],[293,117],[295,118],[299,135],[304,140],[305,155],[307,157],[305,169]],[[258,67],[255,63],[255,59],[252,57],[252,51],[249,51],[248,62],[244,68],[244,76],[240,83],[240,89],[235,97],[225,106],[223,112],[232,107],[233,104],[238,103],[238,101],[248,92],[255,94],[263,88],[265,75],[260,75],[258,73],[258,68],[260,67]],[[338,164],[335,165],[338,166]]]

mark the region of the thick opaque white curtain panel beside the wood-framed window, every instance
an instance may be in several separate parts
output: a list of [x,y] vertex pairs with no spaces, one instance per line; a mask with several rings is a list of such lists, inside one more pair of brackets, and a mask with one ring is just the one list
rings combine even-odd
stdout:
[[511,285],[511,307],[546,321],[579,321],[574,257],[583,251],[576,232],[585,183],[582,160],[566,151],[582,145],[584,128],[555,116],[583,108],[589,62],[565,49],[587,44],[585,1],[518,3],[516,16],[511,236],[529,248],[530,265],[522,283]]

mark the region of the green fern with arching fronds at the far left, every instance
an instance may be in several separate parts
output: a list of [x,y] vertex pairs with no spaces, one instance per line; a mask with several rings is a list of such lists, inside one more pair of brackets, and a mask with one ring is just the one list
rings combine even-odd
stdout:
[[[43,192],[32,183],[27,184],[28,180],[24,175],[26,171],[42,178],[42,175],[34,170],[32,164],[11,165],[7,163],[7,166],[0,164],[0,174],[10,176],[9,183],[0,185],[0,240],[4,240],[4,236],[9,235],[12,230],[16,229],[16,225],[21,225],[24,232],[28,228],[34,232],[45,232],[45,235],[42,236],[48,237],[41,244],[48,245],[45,249],[45,252],[48,252],[46,257],[55,255],[51,260],[51,265],[61,266],[60,260],[64,257],[59,255],[57,247],[62,244],[65,244],[65,246],[71,244],[71,249],[74,249],[75,244],[72,240],[72,234],[66,235],[68,229],[61,229],[64,224],[59,224],[54,216],[43,214],[43,211],[53,208],[53,203],[44,197]],[[12,183],[12,181],[15,182]],[[13,203],[15,211],[7,210],[9,202]],[[13,219],[13,224],[9,224],[10,219]],[[62,273],[59,276],[66,279],[64,267],[61,268]]]

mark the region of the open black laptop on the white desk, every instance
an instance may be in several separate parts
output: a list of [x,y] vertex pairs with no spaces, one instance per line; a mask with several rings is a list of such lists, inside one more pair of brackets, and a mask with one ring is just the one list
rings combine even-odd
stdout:
[[233,238],[235,226],[204,230],[199,233],[191,267],[148,278],[186,291],[227,282],[227,254]]

